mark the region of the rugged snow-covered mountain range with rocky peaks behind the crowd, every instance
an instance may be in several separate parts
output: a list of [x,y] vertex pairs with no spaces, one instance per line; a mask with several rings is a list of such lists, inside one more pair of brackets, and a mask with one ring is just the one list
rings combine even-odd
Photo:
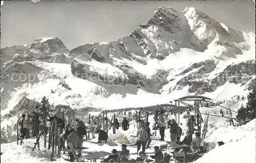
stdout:
[[1,124],[43,96],[53,108],[86,114],[93,107],[154,105],[187,95],[220,101],[255,87],[254,34],[195,8],[160,7],[129,36],[109,43],[68,50],[56,37],[39,38],[1,49],[2,56]]

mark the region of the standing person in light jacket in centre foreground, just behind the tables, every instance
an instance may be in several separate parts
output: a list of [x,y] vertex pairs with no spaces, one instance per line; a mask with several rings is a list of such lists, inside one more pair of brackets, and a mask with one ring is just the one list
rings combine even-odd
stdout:
[[147,131],[145,122],[141,123],[141,128],[137,131],[137,152],[139,152],[142,145],[142,152],[145,153],[145,147],[147,142]]

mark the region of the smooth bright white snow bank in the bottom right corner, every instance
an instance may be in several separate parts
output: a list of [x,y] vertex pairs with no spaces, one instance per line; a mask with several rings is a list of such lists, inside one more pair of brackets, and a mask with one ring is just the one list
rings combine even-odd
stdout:
[[255,119],[239,127],[215,124],[209,129],[206,142],[225,144],[203,155],[194,163],[226,163],[246,162],[255,163]]

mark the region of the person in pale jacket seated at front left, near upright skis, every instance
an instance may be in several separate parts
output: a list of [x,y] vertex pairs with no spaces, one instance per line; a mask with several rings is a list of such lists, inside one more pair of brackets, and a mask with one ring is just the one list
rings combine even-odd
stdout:
[[[70,132],[71,133],[70,133],[70,135],[68,137],[69,143],[71,143],[75,149],[82,149],[82,147],[79,146],[80,138],[79,138],[78,134],[75,133],[75,129],[71,128]],[[69,146],[68,146],[68,149],[70,149]],[[70,156],[70,160],[69,161],[70,162],[74,162],[74,155],[73,155],[73,153],[69,152],[68,154]],[[79,152],[77,156],[80,157],[81,156],[81,152]]]

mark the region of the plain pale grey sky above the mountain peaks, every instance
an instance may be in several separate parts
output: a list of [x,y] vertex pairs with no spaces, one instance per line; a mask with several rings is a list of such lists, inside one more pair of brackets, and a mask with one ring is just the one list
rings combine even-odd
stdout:
[[1,6],[1,48],[58,37],[69,49],[116,41],[148,21],[158,7],[195,7],[245,32],[255,32],[252,2],[227,1],[5,1]]

